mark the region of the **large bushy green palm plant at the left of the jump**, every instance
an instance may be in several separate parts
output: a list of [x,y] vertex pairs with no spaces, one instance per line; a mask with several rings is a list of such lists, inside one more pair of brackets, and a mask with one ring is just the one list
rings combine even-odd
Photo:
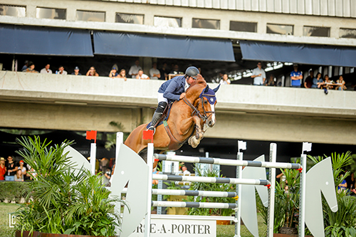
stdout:
[[100,174],[76,169],[65,147],[73,142],[51,146],[39,137],[18,140],[18,154],[33,168],[33,181],[25,189],[28,201],[17,211],[16,230],[39,236],[115,236],[120,215],[114,212],[118,196],[102,184]]

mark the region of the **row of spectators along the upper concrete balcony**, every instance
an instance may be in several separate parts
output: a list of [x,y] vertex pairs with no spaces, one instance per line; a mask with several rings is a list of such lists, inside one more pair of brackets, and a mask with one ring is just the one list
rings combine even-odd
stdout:
[[[51,65],[46,64],[43,69],[40,70],[40,73],[48,73],[51,74],[52,70],[50,69]],[[323,75],[321,73],[317,73],[314,76],[313,70],[308,72],[308,77],[303,80],[303,73],[298,70],[298,64],[293,64],[294,70],[290,72],[290,86],[292,88],[314,88],[314,89],[323,89],[325,94],[328,94],[328,90],[346,90],[345,80],[343,80],[342,75],[339,76],[339,79],[334,82],[329,79],[328,75]],[[35,70],[35,65],[31,61],[26,61],[25,65],[22,68],[23,72],[26,73],[38,73]],[[78,66],[75,66],[73,73],[71,75],[82,75]],[[199,68],[201,72],[201,69]],[[61,65],[56,70],[56,74],[67,75],[67,71]],[[128,73],[126,74],[125,68],[119,70],[117,64],[113,65],[108,76],[110,78],[122,78],[127,80],[127,78],[132,79],[141,79],[141,80],[169,80],[174,75],[182,75],[184,74],[181,70],[179,70],[178,64],[172,64],[171,70],[167,67],[167,63],[162,64],[162,68],[157,67],[157,63],[152,63],[152,68],[145,73],[144,70],[140,66],[140,60],[135,60],[135,64],[130,67]],[[253,79],[253,85],[266,85],[266,86],[281,86],[282,83],[276,82],[276,78],[274,75],[269,75],[269,78],[266,79],[266,72],[262,68],[262,63],[258,62],[257,67],[252,70],[251,78]],[[90,67],[87,73],[87,76],[99,76],[99,73],[95,70],[95,67]],[[171,76],[169,76],[171,75]],[[217,83],[220,84],[231,84],[231,80],[228,74],[220,73]],[[356,90],[355,85],[352,85],[354,90]]]

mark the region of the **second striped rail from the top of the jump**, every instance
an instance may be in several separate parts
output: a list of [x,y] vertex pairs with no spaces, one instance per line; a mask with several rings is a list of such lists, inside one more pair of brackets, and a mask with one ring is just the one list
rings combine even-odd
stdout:
[[232,178],[215,178],[215,177],[193,177],[179,176],[169,174],[152,174],[152,179],[157,180],[172,180],[172,181],[191,181],[213,184],[251,184],[251,185],[268,185],[266,179],[232,179]]

